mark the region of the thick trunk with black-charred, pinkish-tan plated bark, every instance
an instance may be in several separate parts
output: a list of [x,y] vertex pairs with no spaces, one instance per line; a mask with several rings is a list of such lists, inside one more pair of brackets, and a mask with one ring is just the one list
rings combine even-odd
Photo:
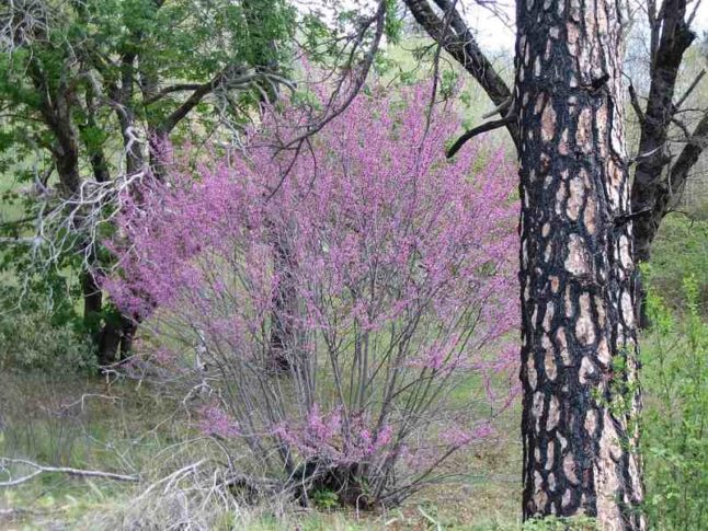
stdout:
[[617,3],[517,2],[524,518],[643,529]]

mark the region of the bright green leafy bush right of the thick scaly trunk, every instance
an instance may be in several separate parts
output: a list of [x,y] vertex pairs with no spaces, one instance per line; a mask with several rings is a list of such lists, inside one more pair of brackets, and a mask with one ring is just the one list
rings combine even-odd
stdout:
[[654,287],[648,297],[642,450],[654,529],[708,529],[708,324],[695,277],[684,279],[683,292],[683,314]]

